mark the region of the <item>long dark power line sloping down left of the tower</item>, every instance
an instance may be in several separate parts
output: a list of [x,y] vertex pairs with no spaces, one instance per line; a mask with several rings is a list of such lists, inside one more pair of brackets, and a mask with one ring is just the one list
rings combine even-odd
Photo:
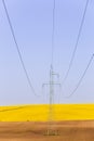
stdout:
[[[25,75],[26,75],[28,85],[29,85],[31,91],[33,92],[33,94],[35,94],[35,95],[38,95],[38,94],[36,93],[36,91],[35,91],[35,88],[33,88],[32,85],[31,85],[31,80],[30,80],[30,78],[29,78],[29,75],[28,75],[28,73],[27,73],[26,66],[25,66],[25,64],[24,64],[24,61],[23,61],[23,57],[22,57],[22,54],[21,54],[21,51],[19,51],[19,46],[18,46],[18,43],[17,43],[15,34],[14,34],[14,29],[13,29],[13,26],[12,26],[12,23],[11,23],[11,18],[10,18],[10,16],[9,16],[9,12],[8,12],[8,9],[6,9],[6,5],[5,5],[5,1],[2,0],[2,3],[3,3],[3,8],[4,8],[4,11],[5,11],[6,17],[8,17],[8,22],[9,22],[9,25],[10,25],[10,29],[11,29],[11,33],[12,33],[12,36],[13,36],[13,39],[14,39],[14,42],[15,42],[15,47],[16,47],[16,50],[17,50],[17,53],[18,53],[18,56],[19,56],[19,60],[21,60],[21,63],[22,63],[24,73],[25,73]],[[39,97],[39,95],[38,95],[38,97]]]

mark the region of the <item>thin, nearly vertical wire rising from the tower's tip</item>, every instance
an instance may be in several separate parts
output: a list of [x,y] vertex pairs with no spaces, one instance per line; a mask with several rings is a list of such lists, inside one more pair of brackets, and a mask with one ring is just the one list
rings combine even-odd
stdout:
[[55,7],[56,7],[56,0],[53,1],[53,27],[52,27],[52,61],[51,64],[54,63],[54,40],[55,40]]

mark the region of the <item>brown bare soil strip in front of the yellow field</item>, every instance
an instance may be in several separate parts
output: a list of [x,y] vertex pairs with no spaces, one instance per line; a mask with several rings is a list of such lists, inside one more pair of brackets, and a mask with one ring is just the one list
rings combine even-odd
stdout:
[[56,121],[57,136],[46,136],[48,123],[0,123],[0,141],[94,141],[94,120]]

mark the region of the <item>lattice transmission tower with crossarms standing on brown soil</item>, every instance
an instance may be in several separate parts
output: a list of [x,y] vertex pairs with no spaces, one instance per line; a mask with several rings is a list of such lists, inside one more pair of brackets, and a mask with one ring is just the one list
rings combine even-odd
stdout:
[[[54,77],[56,76],[57,82],[55,82]],[[54,88],[57,86],[61,89],[61,84],[59,84],[59,75],[54,73],[53,66],[51,65],[50,68],[50,82],[49,84],[43,84],[43,88],[45,86],[49,86],[50,89],[50,98],[49,98],[49,121],[48,121],[48,130],[46,130],[46,136],[56,136],[58,132],[54,129],[54,111],[53,111],[53,104],[54,104]]]

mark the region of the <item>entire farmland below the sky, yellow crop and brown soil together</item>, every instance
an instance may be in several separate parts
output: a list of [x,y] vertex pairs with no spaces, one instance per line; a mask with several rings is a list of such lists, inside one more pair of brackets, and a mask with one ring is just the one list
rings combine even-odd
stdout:
[[0,106],[0,141],[94,141],[94,104],[53,105],[52,131],[49,105]]

